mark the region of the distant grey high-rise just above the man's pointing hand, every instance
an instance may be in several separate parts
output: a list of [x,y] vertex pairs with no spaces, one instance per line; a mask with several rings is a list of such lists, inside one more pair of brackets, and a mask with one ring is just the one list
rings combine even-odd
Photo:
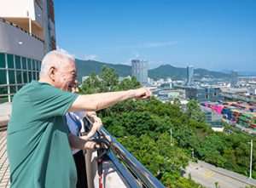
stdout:
[[146,60],[131,60],[132,76],[140,83],[148,83],[148,62]]

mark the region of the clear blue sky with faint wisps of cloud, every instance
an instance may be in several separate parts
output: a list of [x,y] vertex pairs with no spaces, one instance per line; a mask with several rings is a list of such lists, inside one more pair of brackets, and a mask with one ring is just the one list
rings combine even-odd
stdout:
[[255,0],[54,0],[59,48],[82,60],[256,71]]

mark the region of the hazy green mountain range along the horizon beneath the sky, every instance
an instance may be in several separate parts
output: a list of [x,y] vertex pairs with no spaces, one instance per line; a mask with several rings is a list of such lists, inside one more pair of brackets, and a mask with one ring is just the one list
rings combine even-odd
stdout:
[[[112,67],[119,73],[119,77],[131,76],[131,66],[125,65],[113,65],[108,63],[102,63],[95,60],[75,60],[78,68],[78,79],[82,80],[83,76],[90,75],[91,72],[99,74],[102,72],[102,66]],[[201,79],[202,77],[228,79],[230,74],[218,71],[208,71],[206,69],[195,69],[195,79]],[[159,66],[155,69],[148,70],[148,77],[159,79],[171,77],[173,80],[186,79],[187,69],[181,67],[175,67],[171,65]]]

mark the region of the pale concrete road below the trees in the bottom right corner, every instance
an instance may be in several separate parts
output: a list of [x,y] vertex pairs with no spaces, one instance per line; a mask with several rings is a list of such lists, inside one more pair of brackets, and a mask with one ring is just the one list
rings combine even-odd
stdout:
[[216,168],[206,162],[189,162],[189,166],[185,169],[186,178],[191,178],[201,185],[216,188],[216,182],[220,188],[241,188],[241,187],[256,187],[255,179],[236,174],[224,168]]

